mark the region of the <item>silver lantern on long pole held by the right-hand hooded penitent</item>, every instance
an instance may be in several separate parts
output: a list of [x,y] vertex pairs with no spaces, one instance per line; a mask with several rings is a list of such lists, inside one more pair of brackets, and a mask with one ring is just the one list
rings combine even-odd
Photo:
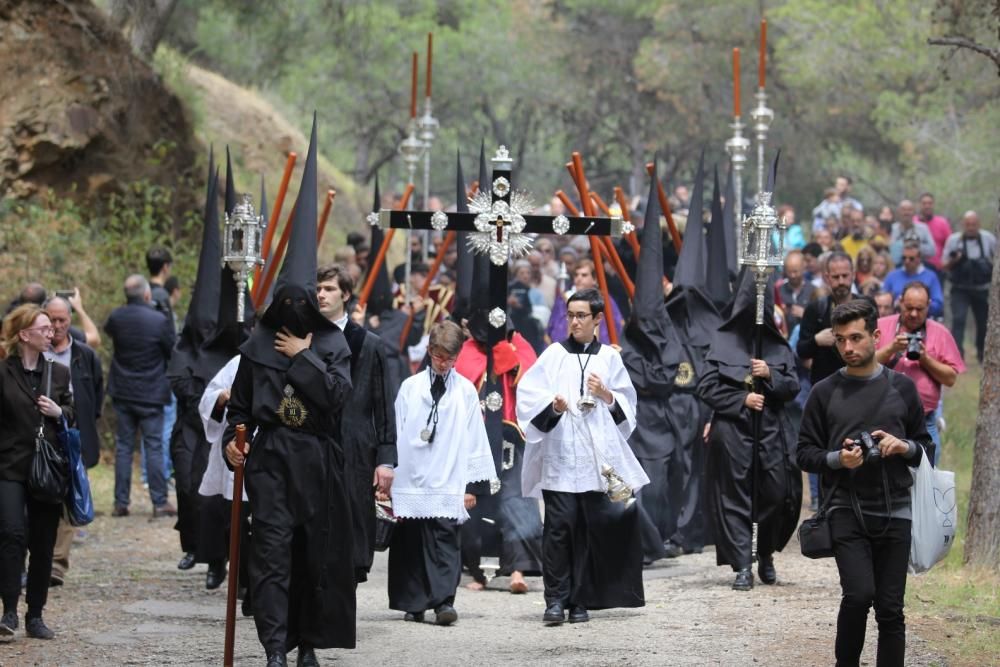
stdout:
[[[743,218],[740,237],[740,266],[753,271],[754,286],[757,288],[756,314],[754,318],[754,358],[763,355],[763,334],[767,281],[778,267],[782,266],[785,255],[785,219],[778,218],[771,205],[772,193],[757,193],[753,211]],[[758,381],[753,381],[753,391],[758,392]],[[761,413],[753,410],[753,458],[750,475],[750,559],[757,560],[758,532],[758,479],[761,448]]]

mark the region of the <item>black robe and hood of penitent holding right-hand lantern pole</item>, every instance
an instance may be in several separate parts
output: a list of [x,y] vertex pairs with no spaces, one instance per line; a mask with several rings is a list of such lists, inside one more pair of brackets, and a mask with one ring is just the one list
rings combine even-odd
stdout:
[[[749,274],[747,274],[749,275]],[[716,562],[733,570],[750,567],[753,412],[746,406],[754,335],[753,283],[744,276],[730,318],[716,332],[698,394],[714,410],[706,469],[707,506],[715,533]],[[747,286],[749,285],[749,287]],[[768,294],[773,290],[768,289]],[[757,507],[758,553],[781,551],[795,531],[802,504],[802,474],[795,464],[795,432],[785,411],[799,391],[791,348],[773,328],[768,299],[762,355],[771,377],[760,380]]]

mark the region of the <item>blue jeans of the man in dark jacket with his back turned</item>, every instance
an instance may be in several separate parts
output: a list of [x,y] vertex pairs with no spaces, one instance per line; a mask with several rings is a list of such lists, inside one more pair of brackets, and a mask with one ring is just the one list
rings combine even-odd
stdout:
[[149,498],[154,507],[167,502],[167,480],[163,471],[163,406],[112,400],[118,428],[115,433],[115,507],[128,507],[132,488],[132,454],[136,432],[149,452],[147,472]]

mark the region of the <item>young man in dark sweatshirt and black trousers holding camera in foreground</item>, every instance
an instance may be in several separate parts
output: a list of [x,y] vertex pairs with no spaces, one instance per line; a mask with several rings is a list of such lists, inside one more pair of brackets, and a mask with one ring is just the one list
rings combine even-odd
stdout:
[[913,484],[907,466],[919,465],[930,441],[917,387],[879,361],[877,323],[866,299],[834,308],[831,324],[845,367],[813,387],[799,430],[796,458],[803,470],[822,475],[843,590],[838,665],[859,664],[873,604],[876,662],[903,665]]

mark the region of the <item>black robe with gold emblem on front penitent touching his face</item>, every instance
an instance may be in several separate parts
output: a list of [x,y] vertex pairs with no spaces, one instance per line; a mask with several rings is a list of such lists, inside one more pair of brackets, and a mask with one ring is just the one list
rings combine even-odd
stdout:
[[[255,333],[265,326],[258,324]],[[311,349],[282,363],[268,349],[273,332],[260,339],[256,351],[253,339],[243,347],[224,440],[237,424],[248,433],[259,429],[244,478],[253,516],[249,572],[257,634],[269,652],[300,643],[354,648],[350,502],[343,448],[332,435],[351,391],[350,351],[339,330],[326,330],[314,334]]]

